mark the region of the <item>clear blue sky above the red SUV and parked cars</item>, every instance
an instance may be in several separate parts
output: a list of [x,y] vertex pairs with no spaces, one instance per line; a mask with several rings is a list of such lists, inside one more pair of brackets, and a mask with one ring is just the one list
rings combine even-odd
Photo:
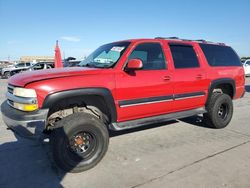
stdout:
[[250,0],[0,0],[0,60],[82,59],[102,44],[176,36],[224,42],[250,56]]

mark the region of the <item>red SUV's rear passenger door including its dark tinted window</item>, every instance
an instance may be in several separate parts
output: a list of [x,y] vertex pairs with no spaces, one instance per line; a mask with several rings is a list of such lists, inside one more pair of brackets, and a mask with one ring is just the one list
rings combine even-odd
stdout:
[[198,49],[192,44],[170,43],[174,65],[174,111],[202,107],[206,101],[208,80]]

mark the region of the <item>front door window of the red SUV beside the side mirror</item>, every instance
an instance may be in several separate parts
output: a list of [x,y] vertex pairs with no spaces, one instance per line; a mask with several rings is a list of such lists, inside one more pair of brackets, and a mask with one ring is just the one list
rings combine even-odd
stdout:
[[130,59],[140,59],[143,63],[143,70],[166,69],[166,62],[161,45],[159,43],[139,44],[130,54]]

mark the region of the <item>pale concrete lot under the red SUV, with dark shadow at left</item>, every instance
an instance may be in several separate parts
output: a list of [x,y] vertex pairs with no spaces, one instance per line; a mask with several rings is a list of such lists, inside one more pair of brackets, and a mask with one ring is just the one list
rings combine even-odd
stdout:
[[[231,124],[205,128],[197,117],[112,134],[94,169],[58,170],[48,141],[14,135],[0,118],[0,187],[250,187],[250,78]],[[0,102],[6,80],[0,80]]]

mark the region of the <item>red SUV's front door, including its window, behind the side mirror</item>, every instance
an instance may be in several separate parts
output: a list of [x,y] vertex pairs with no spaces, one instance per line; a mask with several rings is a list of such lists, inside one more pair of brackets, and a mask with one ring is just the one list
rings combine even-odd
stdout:
[[172,75],[167,68],[163,44],[138,43],[128,60],[142,60],[143,68],[116,73],[118,122],[168,113],[172,110]]

